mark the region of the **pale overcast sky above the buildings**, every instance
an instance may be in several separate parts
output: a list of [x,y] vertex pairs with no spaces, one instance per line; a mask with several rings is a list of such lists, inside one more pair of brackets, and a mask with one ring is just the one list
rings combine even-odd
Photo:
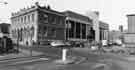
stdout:
[[[4,1],[8,4],[4,5]],[[57,11],[71,10],[80,14],[99,11],[99,20],[108,23],[110,30],[118,30],[119,25],[127,29],[126,15],[135,14],[134,0],[0,0],[0,22],[10,23],[12,12],[30,7],[36,1]]]

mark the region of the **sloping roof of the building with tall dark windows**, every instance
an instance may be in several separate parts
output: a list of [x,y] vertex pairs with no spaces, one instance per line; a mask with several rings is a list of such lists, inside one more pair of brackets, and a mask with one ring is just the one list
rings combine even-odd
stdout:
[[66,16],[71,17],[71,18],[79,19],[79,20],[86,21],[86,22],[92,22],[92,20],[89,19],[87,16],[78,14],[78,13],[73,12],[73,11],[64,11],[63,13]]

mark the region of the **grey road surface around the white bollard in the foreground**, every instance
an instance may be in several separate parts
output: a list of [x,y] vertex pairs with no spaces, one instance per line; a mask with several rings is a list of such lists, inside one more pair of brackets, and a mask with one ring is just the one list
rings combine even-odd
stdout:
[[[34,49],[33,49],[34,50]],[[24,60],[7,61],[6,64],[0,62],[0,70],[134,70],[135,60],[128,60],[119,54],[104,53],[94,54],[87,48],[74,48],[70,50],[68,55],[85,57],[86,59],[76,64],[58,64],[54,61],[60,59],[61,49],[39,47],[37,51],[42,51],[44,55],[35,58],[28,58]],[[51,55],[56,56],[51,56]],[[59,56],[59,57],[57,57]],[[56,58],[55,58],[56,57]],[[42,58],[48,58],[42,59]],[[133,56],[134,59],[134,56]],[[2,66],[3,65],[3,66]]]

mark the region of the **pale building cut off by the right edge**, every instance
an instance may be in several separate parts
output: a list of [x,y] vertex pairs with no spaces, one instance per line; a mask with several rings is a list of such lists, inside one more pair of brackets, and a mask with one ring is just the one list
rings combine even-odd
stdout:
[[135,14],[127,15],[128,31],[124,33],[124,44],[126,47],[135,47]]

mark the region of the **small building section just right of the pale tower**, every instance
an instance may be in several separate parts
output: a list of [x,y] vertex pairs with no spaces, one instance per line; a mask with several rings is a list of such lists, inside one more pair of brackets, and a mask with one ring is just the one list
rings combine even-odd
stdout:
[[100,40],[108,40],[109,25],[105,22],[99,22]]

